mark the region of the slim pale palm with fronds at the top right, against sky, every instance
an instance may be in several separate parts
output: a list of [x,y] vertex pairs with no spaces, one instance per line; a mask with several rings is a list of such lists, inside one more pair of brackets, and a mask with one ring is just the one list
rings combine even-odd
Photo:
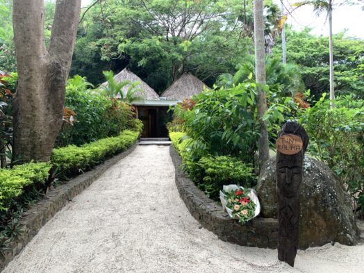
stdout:
[[333,11],[333,0],[305,0],[298,3],[292,4],[297,8],[301,6],[310,5],[313,6],[315,13],[320,15],[326,13],[329,19],[329,66],[330,66],[330,99],[331,108],[334,108],[333,100],[335,99],[335,91],[333,89],[333,30],[332,30],[332,11]]

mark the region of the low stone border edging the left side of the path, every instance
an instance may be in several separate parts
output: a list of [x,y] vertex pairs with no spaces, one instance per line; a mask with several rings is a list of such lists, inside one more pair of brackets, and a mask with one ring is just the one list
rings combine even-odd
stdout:
[[129,149],[122,153],[105,160],[104,163],[97,165],[93,169],[84,174],[76,176],[63,185],[59,185],[49,191],[47,196],[38,201],[26,210],[20,224],[24,226],[24,232],[21,238],[16,242],[10,244],[11,251],[5,256],[0,256],[0,272],[10,263],[13,258],[19,254],[20,251],[30,242],[42,226],[46,224],[51,218],[58,213],[64,206],[67,205],[76,195],[80,194],[83,190],[88,188],[101,174],[104,174],[107,169],[115,165],[119,160],[129,156],[138,146],[138,141],[133,144]]

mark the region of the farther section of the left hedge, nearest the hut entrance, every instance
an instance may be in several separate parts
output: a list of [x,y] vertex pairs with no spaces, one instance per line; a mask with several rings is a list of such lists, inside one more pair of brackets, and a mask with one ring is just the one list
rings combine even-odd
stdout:
[[94,167],[119,152],[125,151],[138,139],[139,132],[125,130],[117,137],[104,138],[83,144],[81,147],[69,145],[53,149],[51,163],[53,167],[69,176]]

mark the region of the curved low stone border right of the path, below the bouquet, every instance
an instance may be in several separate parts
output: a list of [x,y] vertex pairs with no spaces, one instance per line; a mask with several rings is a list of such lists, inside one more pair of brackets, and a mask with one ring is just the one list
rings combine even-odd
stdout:
[[231,220],[222,210],[221,204],[209,199],[199,190],[195,183],[185,177],[179,169],[181,158],[173,145],[169,148],[174,168],[176,169],[176,186],[181,199],[201,226],[215,233],[220,240],[233,242],[246,247],[276,249],[278,242],[278,220],[256,217],[239,224]]

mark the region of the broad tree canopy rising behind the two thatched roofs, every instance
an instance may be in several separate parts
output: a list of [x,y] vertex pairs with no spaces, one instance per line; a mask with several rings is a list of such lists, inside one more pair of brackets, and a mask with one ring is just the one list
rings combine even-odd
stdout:
[[[185,70],[212,85],[219,74],[233,71],[247,53],[254,53],[249,1],[102,2],[83,17],[72,64],[72,73],[88,76],[92,83],[101,82],[105,68],[129,65],[157,92]],[[274,33],[274,40],[279,8],[265,2],[266,33]]]

